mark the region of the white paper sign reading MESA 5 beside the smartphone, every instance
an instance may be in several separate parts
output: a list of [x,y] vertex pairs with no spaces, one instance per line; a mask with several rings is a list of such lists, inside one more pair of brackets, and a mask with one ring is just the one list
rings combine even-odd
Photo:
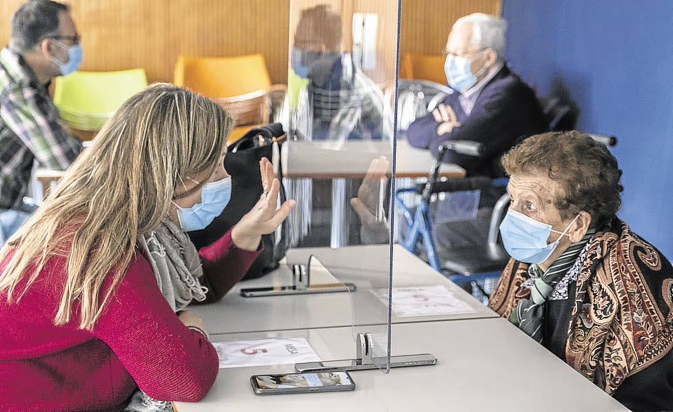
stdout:
[[269,338],[212,342],[221,368],[259,367],[273,364],[320,362],[305,338]]

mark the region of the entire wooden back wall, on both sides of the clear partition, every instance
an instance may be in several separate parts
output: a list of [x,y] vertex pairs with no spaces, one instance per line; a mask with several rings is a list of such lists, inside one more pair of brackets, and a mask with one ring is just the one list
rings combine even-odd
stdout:
[[[0,44],[23,0],[0,1]],[[83,36],[83,70],[144,68],[150,81],[172,81],[179,54],[235,56],[262,53],[272,81],[286,83],[290,0],[70,0]],[[395,0],[301,0],[353,12],[387,10]],[[300,5],[300,6],[301,6]],[[403,0],[401,52],[439,54],[454,21],[472,12],[500,14],[501,0]],[[381,8],[385,6],[385,8]],[[390,6],[390,7],[389,7]],[[295,22],[296,23],[296,22]],[[344,37],[351,23],[344,21]],[[394,48],[394,28],[381,28],[382,48]],[[385,59],[390,56],[386,54]],[[386,74],[388,76],[388,74]]]

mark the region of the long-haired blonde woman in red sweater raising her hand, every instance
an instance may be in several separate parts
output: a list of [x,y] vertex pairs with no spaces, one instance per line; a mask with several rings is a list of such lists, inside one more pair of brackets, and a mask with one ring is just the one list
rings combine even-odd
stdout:
[[[259,203],[194,251],[196,262],[170,262],[190,256],[181,231],[208,225],[228,201],[232,125],[203,96],[149,87],[122,105],[8,240],[0,250],[1,411],[123,410],[138,387],[158,400],[205,396],[217,353],[201,319],[176,316],[175,305],[230,289],[259,254],[261,235],[294,205],[277,209],[279,182],[263,161]],[[167,292],[175,278],[184,282]]]

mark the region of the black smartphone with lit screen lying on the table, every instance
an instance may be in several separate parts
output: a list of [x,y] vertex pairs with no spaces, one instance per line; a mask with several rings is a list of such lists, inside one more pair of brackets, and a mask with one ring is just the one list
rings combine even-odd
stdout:
[[250,377],[250,384],[256,395],[338,392],[355,389],[355,382],[348,372],[344,371],[253,375]]

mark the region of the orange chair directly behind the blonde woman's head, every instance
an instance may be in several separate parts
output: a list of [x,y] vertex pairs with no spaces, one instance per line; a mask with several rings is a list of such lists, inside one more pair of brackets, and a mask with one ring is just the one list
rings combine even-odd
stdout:
[[[237,141],[252,127],[269,123],[272,99],[285,94],[285,85],[272,85],[264,56],[178,56],[174,83],[210,97],[228,110],[236,126],[228,143]],[[275,99],[274,99],[275,98]]]

